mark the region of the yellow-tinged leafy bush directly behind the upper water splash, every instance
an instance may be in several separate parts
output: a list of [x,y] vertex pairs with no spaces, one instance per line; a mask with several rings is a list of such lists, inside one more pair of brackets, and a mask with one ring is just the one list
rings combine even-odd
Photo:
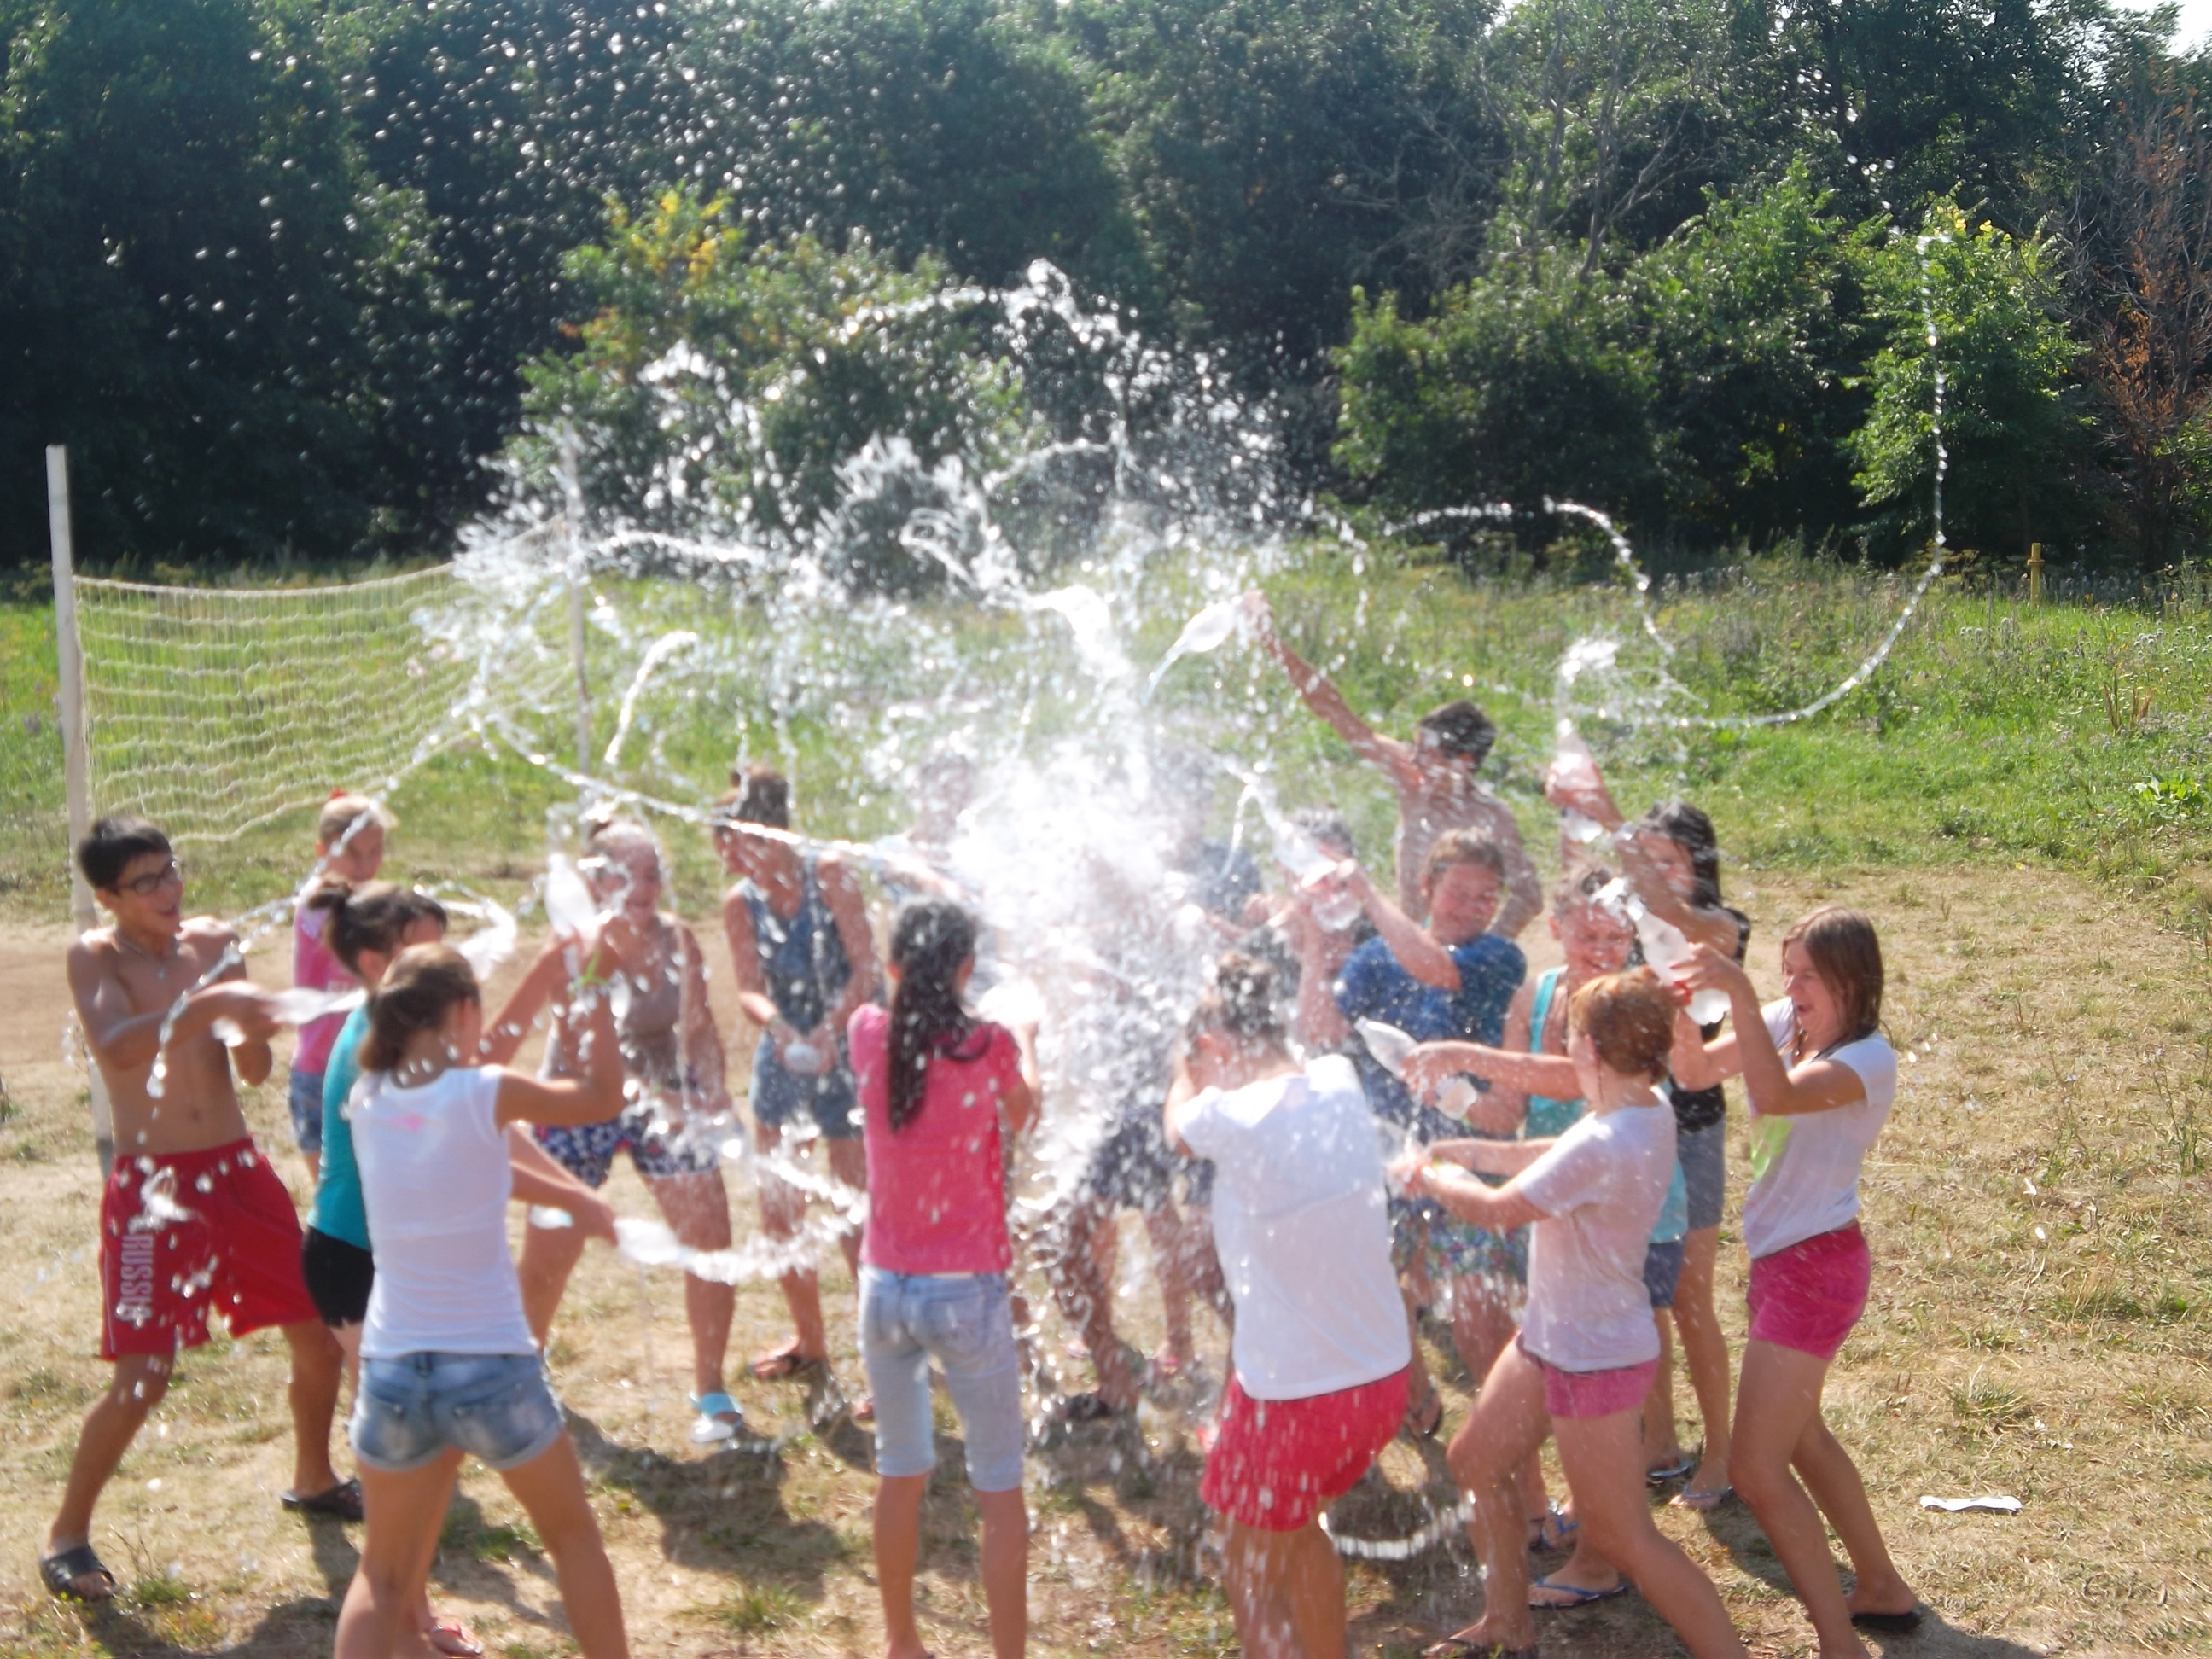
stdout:
[[[668,190],[635,217],[613,208],[606,241],[568,257],[595,316],[573,354],[524,369],[524,467],[549,469],[573,429],[586,495],[626,522],[790,544],[841,507],[863,453],[909,476],[956,460],[967,478],[1004,458],[1026,425],[1020,380],[942,265],[900,272],[858,239],[748,248],[728,217]],[[874,586],[942,575],[896,542],[832,553]]]

